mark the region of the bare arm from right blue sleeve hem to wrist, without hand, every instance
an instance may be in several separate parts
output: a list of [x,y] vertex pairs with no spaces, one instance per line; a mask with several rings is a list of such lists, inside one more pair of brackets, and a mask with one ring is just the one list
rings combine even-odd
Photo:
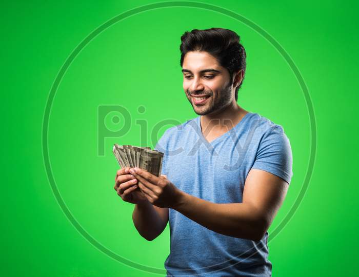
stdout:
[[217,233],[259,241],[281,207],[288,186],[274,174],[251,169],[243,203],[215,204],[182,192],[174,209]]

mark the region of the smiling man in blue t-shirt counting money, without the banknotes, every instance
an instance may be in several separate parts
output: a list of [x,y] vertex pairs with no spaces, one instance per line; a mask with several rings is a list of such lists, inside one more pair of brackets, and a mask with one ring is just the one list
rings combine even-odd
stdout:
[[194,29],[181,37],[183,88],[199,115],[166,130],[161,177],[116,174],[147,240],[170,223],[168,276],[271,276],[268,228],[291,181],[292,152],[280,125],[237,105],[246,70],[240,37]]

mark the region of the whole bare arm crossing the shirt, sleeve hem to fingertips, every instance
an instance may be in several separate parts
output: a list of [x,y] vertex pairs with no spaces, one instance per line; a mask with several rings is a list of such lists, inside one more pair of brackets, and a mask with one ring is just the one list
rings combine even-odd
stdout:
[[202,226],[235,238],[259,241],[268,230],[287,194],[288,183],[260,169],[248,173],[242,203],[216,204],[192,196],[169,180],[141,169],[130,171],[153,205],[181,212]]

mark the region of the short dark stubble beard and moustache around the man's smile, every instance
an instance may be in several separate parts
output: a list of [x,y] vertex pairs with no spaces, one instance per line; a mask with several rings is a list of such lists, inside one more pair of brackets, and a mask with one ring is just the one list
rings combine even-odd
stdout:
[[203,106],[196,106],[192,103],[191,96],[195,96],[196,93],[192,93],[190,90],[187,90],[187,99],[189,103],[191,103],[194,112],[198,115],[207,115],[211,113],[217,113],[226,108],[232,102],[232,84],[225,86],[219,93],[217,93],[214,97],[213,92],[210,90],[203,90],[198,95],[206,94],[210,95],[209,99],[207,100],[206,104]]

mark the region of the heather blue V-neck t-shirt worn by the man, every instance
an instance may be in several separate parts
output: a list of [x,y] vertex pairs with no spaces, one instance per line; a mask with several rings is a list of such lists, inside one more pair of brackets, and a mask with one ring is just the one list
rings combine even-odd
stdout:
[[[257,113],[208,143],[200,116],[167,129],[155,146],[164,152],[162,174],[184,192],[213,203],[242,203],[251,168],[290,184],[292,151],[283,127]],[[167,276],[271,276],[268,232],[260,241],[233,238],[169,209]]]

